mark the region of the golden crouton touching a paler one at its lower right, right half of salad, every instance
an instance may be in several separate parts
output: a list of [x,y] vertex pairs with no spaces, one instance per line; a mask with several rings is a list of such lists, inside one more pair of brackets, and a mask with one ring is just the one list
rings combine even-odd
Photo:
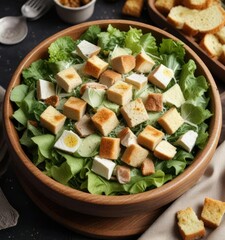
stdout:
[[137,141],[143,147],[148,148],[153,151],[157,144],[164,137],[164,133],[160,130],[148,125],[145,129],[138,135]]

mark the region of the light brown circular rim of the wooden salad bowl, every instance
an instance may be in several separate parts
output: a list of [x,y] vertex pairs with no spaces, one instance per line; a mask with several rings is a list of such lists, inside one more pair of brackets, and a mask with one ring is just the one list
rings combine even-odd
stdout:
[[[11,148],[14,148],[16,151],[16,154],[20,161],[22,161],[24,167],[26,167],[32,174],[43,184],[47,185],[49,188],[51,188],[53,191],[56,191],[58,193],[63,193],[66,197],[71,199],[76,199],[83,202],[91,202],[94,204],[101,204],[101,205],[121,205],[121,204],[137,204],[142,201],[148,201],[148,200],[157,200],[165,196],[166,194],[172,193],[176,189],[179,189],[183,184],[185,184],[186,181],[188,181],[189,178],[191,178],[195,172],[203,170],[204,164],[208,164],[211,160],[212,154],[214,153],[218,140],[219,135],[221,131],[222,126],[222,110],[221,110],[221,103],[219,98],[219,92],[217,89],[217,86],[214,82],[214,79],[209,72],[208,68],[205,66],[204,62],[196,55],[196,53],[189,48],[186,44],[184,44],[185,49],[192,55],[194,60],[198,62],[204,72],[205,76],[208,79],[208,82],[210,84],[211,88],[211,97],[212,97],[212,109],[214,109],[214,116],[212,117],[212,120],[210,122],[210,136],[208,139],[208,142],[203,150],[201,150],[196,159],[193,161],[193,163],[179,176],[177,176],[172,181],[164,184],[163,186],[149,190],[143,193],[133,194],[133,195],[122,195],[122,196],[103,196],[103,195],[93,195],[90,193],[85,193],[76,189],[72,189],[70,187],[64,186],[61,183],[56,182],[55,180],[51,179],[50,177],[46,176],[44,173],[42,173],[32,162],[31,160],[26,156],[24,153],[20,143],[17,141],[16,137],[12,136],[12,129],[14,128],[11,120],[10,120],[10,92],[11,89],[14,87],[15,82],[18,78],[20,78],[22,69],[26,66],[27,62],[29,62],[29,59],[36,55],[38,51],[40,51],[43,47],[49,46],[49,44],[54,41],[56,38],[60,36],[65,36],[67,34],[70,34],[71,32],[75,32],[76,30],[80,28],[87,28],[91,25],[108,25],[108,24],[117,24],[117,25],[131,25],[133,27],[137,28],[144,28],[146,30],[155,31],[159,34],[163,34],[165,37],[172,38],[174,40],[179,40],[178,38],[174,37],[173,35],[148,24],[135,22],[135,21],[129,21],[129,20],[121,20],[121,19],[109,19],[109,20],[97,20],[97,21],[91,21],[91,22],[85,22],[79,25],[75,25],[72,27],[69,27],[65,30],[62,30],[49,38],[45,39],[41,43],[39,43],[30,53],[27,54],[27,56],[22,60],[22,62],[17,67],[12,80],[9,83],[9,86],[6,90],[5,95],[5,101],[4,101],[4,127],[6,132],[6,137],[11,145]],[[214,128],[213,128],[214,127]]]

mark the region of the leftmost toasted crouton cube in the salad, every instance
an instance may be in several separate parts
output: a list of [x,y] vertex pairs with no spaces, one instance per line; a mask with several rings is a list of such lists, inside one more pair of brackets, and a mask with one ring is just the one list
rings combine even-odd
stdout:
[[40,116],[41,125],[53,134],[57,134],[59,132],[65,121],[66,116],[52,106],[48,106]]

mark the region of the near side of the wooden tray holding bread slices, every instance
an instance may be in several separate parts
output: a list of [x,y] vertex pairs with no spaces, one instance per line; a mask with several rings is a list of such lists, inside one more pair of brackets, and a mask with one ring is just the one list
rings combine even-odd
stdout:
[[148,12],[150,18],[156,26],[159,26],[162,29],[167,29],[168,32],[178,37],[189,47],[191,47],[204,61],[214,76],[216,76],[220,81],[225,82],[225,65],[219,62],[216,58],[209,57],[193,37],[185,35],[182,31],[176,29],[174,26],[168,23],[166,17],[156,9],[155,0],[148,0]]

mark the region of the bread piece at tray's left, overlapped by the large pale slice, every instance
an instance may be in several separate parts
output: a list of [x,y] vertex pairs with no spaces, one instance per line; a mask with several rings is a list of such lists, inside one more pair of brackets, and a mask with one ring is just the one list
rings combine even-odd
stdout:
[[197,10],[178,5],[170,10],[167,16],[167,21],[177,29],[182,29],[187,18],[196,11]]

